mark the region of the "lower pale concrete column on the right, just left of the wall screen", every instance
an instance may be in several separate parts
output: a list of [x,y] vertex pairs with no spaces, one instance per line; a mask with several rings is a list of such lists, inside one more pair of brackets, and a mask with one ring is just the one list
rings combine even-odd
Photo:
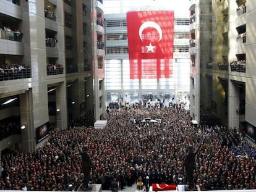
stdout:
[[232,81],[229,81],[228,93],[228,127],[239,128],[239,87]]

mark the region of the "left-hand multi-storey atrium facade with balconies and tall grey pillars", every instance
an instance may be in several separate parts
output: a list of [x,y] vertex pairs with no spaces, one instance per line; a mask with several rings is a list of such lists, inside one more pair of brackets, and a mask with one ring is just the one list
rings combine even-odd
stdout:
[[0,149],[34,150],[49,124],[64,129],[80,117],[101,119],[103,2],[0,0],[0,5]]

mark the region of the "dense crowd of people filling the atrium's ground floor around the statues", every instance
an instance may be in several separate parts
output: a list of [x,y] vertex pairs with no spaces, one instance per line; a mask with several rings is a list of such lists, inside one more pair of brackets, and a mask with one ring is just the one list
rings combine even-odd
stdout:
[[[161,123],[137,123],[145,118]],[[141,177],[145,183],[186,183],[183,169],[187,146],[205,138],[197,154],[194,182],[201,190],[255,189],[255,159],[239,148],[236,131],[224,126],[194,127],[182,108],[122,108],[106,114],[108,125],[95,129],[81,125],[51,130],[46,145],[35,152],[2,152],[1,190],[77,190],[82,183],[81,157],[75,141],[88,146],[92,157],[92,183],[109,190],[131,186]],[[244,142],[244,141],[243,141]],[[245,143],[242,143],[244,146]],[[237,151],[243,151],[241,154]],[[69,185],[72,185],[72,188]]]

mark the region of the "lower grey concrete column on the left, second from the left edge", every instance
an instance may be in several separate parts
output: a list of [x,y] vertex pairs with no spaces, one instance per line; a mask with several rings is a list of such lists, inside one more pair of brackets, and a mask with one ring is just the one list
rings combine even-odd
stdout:
[[56,109],[59,109],[56,114],[56,126],[61,130],[67,128],[67,96],[66,82],[61,83],[56,87]]

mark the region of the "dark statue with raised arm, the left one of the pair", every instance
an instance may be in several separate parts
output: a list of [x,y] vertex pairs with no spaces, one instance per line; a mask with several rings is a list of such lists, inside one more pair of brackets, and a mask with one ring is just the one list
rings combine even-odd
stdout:
[[88,186],[90,181],[90,173],[93,166],[90,154],[87,152],[87,146],[81,148],[79,141],[77,141],[80,155],[82,156],[82,169],[83,169],[83,191],[91,191],[92,189]]

